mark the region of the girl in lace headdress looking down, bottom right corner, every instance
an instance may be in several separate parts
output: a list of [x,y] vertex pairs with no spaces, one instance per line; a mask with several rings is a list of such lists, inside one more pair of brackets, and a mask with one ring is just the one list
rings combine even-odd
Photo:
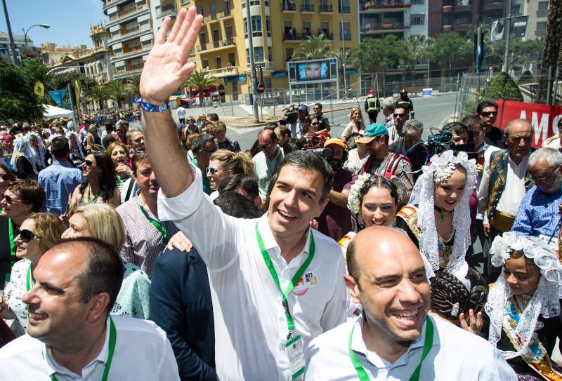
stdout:
[[[519,380],[562,380],[550,360],[560,319],[562,265],[554,250],[533,236],[497,236],[492,265],[502,275],[490,288],[484,310],[488,341],[502,351]],[[485,328],[488,328],[485,326]]]

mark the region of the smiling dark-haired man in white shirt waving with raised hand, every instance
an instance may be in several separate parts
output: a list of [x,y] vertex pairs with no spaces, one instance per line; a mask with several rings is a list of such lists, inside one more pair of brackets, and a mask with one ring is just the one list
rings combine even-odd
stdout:
[[185,63],[203,20],[195,13],[194,7],[182,9],[167,38],[171,21],[164,20],[141,76],[160,217],[176,222],[209,270],[218,378],[298,379],[308,343],[346,316],[339,246],[309,227],[328,201],[332,169],[312,152],[287,155],[268,213],[259,219],[224,215],[204,196],[202,175],[188,163],[166,109],[169,95],[195,67]]

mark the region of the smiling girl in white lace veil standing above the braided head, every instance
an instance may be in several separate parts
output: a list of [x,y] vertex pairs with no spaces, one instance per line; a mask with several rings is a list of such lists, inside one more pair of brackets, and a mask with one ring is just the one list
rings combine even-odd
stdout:
[[464,152],[445,151],[422,171],[410,203],[396,215],[396,227],[407,232],[433,271],[447,269],[466,285],[469,197],[476,185],[476,164]]

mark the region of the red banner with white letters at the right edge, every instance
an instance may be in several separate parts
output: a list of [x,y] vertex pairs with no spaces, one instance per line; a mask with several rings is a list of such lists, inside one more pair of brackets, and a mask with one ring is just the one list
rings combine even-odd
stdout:
[[562,118],[561,106],[539,105],[537,103],[496,100],[499,109],[495,125],[505,128],[509,121],[527,119],[533,128],[532,147],[542,147],[542,142],[558,134],[558,121]]

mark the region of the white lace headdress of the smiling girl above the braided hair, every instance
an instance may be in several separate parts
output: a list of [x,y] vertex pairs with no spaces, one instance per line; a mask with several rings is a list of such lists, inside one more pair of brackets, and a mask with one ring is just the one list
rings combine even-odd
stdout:
[[455,172],[455,166],[461,165],[466,171],[466,185],[462,198],[455,206],[452,214],[452,225],[455,229],[455,241],[452,246],[452,253],[446,271],[455,274],[458,279],[468,286],[466,273],[469,271],[469,265],[464,259],[466,250],[471,245],[470,236],[470,209],[469,197],[472,194],[473,187],[476,185],[476,162],[469,160],[465,152],[459,152],[455,156],[452,151],[445,151],[440,156],[433,155],[431,157],[431,165],[422,167],[422,175],[416,183],[417,189],[412,199],[417,198],[418,203],[418,226],[421,230],[419,237],[419,251],[426,256],[433,270],[439,269],[439,246],[438,234],[435,223],[435,199],[433,192],[435,185],[447,181],[452,173]]

